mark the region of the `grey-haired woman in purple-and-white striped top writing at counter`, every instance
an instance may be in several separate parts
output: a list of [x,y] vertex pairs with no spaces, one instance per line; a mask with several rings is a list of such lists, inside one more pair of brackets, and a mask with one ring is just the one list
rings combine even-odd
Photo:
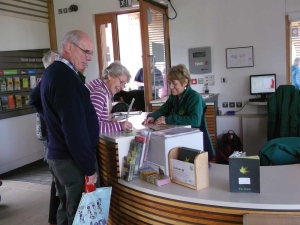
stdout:
[[110,119],[111,99],[114,94],[123,90],[130,78],[129,71],[119,61],[115,61],[103,70],[102,78],[86,83],[98,116],[100,133],[131,130],[130,122],[117,122]]

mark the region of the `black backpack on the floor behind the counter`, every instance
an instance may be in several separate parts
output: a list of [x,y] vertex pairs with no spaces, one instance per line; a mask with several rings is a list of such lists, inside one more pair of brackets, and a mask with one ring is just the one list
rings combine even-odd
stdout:
[[228,164],[228,157],[234,151],[242,151],[241,146],[240,138],[234,133],[233,130],[229,130],[222,136],[221,140],[218,139],[216,163]]

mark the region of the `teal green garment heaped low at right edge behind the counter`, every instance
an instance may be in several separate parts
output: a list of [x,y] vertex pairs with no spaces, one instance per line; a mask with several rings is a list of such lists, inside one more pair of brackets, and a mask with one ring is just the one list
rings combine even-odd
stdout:
[[273,139],[259,151],[259,157],[261,166],[300,163],[300,138]]

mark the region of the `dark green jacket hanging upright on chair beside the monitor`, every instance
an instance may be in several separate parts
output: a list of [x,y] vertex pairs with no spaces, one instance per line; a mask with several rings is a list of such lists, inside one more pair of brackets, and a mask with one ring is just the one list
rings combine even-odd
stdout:
[[293,85],[280,85],[268,100],[268,140],[299,137],[300,95]]

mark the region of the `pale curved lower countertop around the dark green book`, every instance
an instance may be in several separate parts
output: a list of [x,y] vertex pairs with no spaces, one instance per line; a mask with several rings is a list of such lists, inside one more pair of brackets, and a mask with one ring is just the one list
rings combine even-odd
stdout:
[[161,187],[134,178],[119,183],[132,189],[190,203],[220,207],[300,210],[300,164],[260,167],[261,193],[231,193],[229,191],[228,165],[211,164],[210,185],[201,190],[193,190],[175,183]]

